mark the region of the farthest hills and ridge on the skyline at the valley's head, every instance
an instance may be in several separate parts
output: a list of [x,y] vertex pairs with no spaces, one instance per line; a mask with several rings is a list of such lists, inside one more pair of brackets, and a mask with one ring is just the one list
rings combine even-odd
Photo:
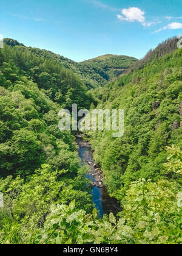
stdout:
[[60,63],[64,68],[73,71],[73,73],[75,73],[79,79],[83,81],[87,88],[104,86],[107,84],[107,82],[110,82],[129,69],[130,66],[137,61],[137,59],[133,57],[106,54],[78,63],[51,51],[26,47],[24,44],[10,38],[5,38],[4,42],[12,47],[16,46],[26,48],[38,57],[56,60],[56,62]]

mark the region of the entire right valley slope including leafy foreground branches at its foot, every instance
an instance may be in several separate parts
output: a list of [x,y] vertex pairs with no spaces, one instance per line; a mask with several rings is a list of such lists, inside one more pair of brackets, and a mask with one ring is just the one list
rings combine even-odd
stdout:
[[93,91],[98,108],[124,109],[124,136],[113,138],[112,131],[86,134],[109,193],[124,208],[121,216],[128,215],[127,224],[141,231],[136,232],[138,238],[150,236],[152,241],[166,230],[160,238],[166,243],[169,233],[176,234],[172,243],[181,242],[182,236],[177,228],[182,199],[182,49],[175,51],[176,42],[165,41],[130,73]]

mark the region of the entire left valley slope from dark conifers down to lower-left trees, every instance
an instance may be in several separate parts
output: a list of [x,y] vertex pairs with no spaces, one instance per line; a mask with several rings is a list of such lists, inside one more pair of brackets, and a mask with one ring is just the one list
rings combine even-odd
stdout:
[[62,107],[77,102],[89,108],[92,99],[58,63],[6,45],[0,49],[0,85],[0,240],[21,243],[16,227],[41,227],[55,202],[76,199],[76,208],[93,210],[75,138],[58,129]]

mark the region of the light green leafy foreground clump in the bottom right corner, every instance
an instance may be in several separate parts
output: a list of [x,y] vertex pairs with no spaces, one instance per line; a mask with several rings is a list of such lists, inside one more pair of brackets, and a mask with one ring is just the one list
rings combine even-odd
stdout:
[[124,198],[121,215],[132,227],[135,243],[180,243],[181,220],[177,183],[141,179],[133,182]]

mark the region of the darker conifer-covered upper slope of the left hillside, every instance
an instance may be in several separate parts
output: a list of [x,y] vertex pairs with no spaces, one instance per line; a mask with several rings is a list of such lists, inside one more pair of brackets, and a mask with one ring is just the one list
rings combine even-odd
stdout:
[[[73,101],[80,108],[90,107],[93,99],[90,99],[86,85],[72,71],[62,67],[55,58],[49,57],[47,51],[33,48],[30,50],[30,48],[21,46],[17,41],[13,40],[8,40],[8,44],[14,47],[5,44],[3,51],[5,57],[2,52],[1,63],[6,61],[13,62],[13,67],[10,68],[12,68],[12,73],[15,73],[15,77],[10,82],[16,82],[18,75],[27,76],[52,101],[63,108],[72,108]],[[9,67],[5,66],[3,68]],[[8,72],[10,73],[10,71]],[[10,73],[5,78],[10,79],[11,76],[13,74]]]

